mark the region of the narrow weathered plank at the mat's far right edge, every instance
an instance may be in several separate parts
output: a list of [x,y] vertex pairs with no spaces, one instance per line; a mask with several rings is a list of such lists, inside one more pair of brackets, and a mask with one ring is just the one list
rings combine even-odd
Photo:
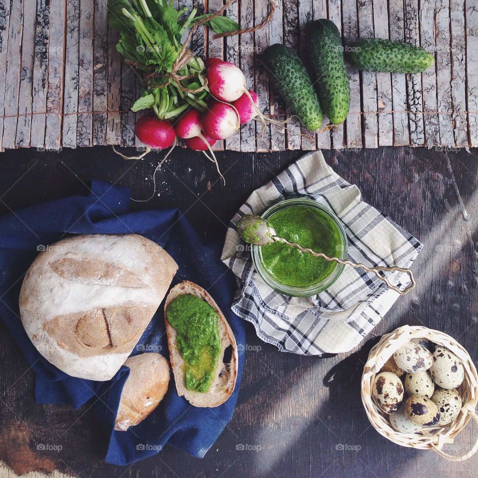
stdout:
[[466,4],[467,104],[470,123],[470,146],[478,146],[478,8]]

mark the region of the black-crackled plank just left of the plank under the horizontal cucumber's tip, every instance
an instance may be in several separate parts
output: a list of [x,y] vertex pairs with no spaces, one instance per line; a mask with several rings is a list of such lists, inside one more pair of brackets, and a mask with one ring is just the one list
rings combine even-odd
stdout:
[[[420,46],[418,28],[419,0],[405,0],[405,41]],[[425,130],[423,124],[422,75],[407,75],[407,96],[409,114],[410,144],[423,146],[425,144]]]

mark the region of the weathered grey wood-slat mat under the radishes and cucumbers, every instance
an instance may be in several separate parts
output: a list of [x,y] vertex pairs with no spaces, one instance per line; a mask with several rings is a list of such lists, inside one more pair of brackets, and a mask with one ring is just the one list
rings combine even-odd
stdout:
[[[374,148],[378,145],[478,145],[478,8],[476,0],[277,0],[272,21],[240,37],[213,40],[197,31],[193,49],[240,66],[264,114],[284,107],[258,68],[257,55],[284,43],[303,56],[304,25],[328,17],[344,38],[405,40],[435,52],[422,74],[350,70],[351,105],[344,125],[311,134],[292,120],[284,131],[260,123],[216,143],[217,150],[269,151]],[[178,2],[178,0],[176,0]],[[222,0],[179,0],[215,11]],[[267,15],[268,0],[241,0],[228,15],[241,28]],[[198,29],[199,30],[199,29]],[[107,25],[107,0],[0,0],[0,149],[121,144],[140,147],[129,111],[141,90],[122,64],[116,31]]]

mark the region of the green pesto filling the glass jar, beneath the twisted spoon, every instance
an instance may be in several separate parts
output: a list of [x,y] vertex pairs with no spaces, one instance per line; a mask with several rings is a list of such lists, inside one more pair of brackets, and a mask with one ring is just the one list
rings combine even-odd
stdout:
[[[340,256],[339,228],[322,211],[309,206],[290,206],[267,220],[277,236],[297,242],[329,257]],[[273,242],[261,247],[262,263],[278,282],[292,287],[307,287],[321,282],[338,266],[322,257],[301,252],[295,247]]]

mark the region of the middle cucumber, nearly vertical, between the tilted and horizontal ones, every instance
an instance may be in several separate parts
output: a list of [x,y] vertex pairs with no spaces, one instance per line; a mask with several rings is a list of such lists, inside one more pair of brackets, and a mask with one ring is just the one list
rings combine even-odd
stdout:
[[320,19],[308,23],[305,35],[322,110],[331,123],[343,123],[349,113],[350,85],[340,32],[333,21]]

